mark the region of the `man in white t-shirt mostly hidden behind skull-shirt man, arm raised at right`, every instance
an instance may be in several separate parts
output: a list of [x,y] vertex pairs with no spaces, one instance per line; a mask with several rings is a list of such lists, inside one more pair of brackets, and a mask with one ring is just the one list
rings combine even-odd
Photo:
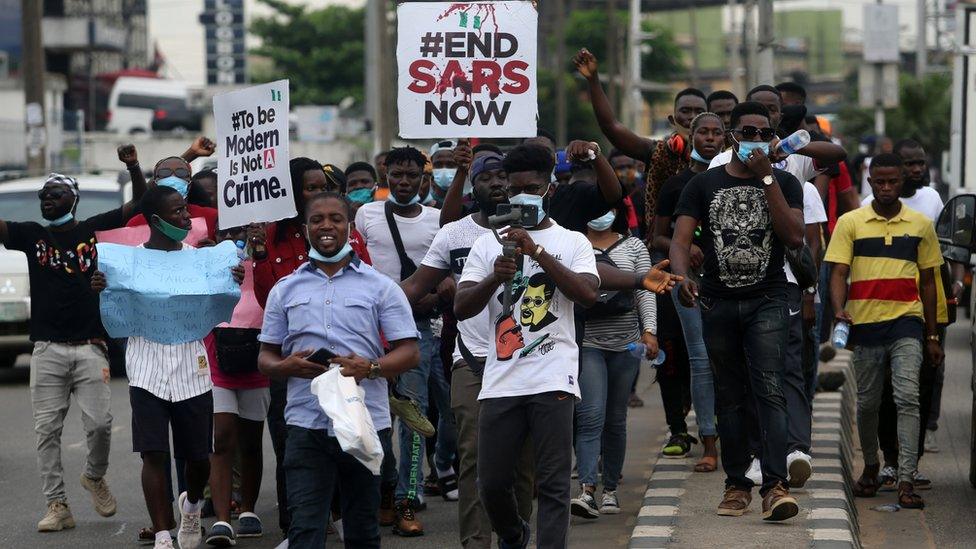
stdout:
[[[773,127],[779,125],[782,100],[781,93],[776,88],[757,86],[749,92],[747,100],[756,101],[765,106],[769,110],[770,125]],[[810,180],[820,173],[818,164],[826,166],[830,163],[843,161],[846,153],[843,148],[833,143],[814,141],[796,154],[784,156],[775,151],[777,144],[778,140],[774,139],[769,145],[771,151],[769,156],[773,162],[773,167],[792,174],[803,185],[804,235],[816,266],[820,255],[820,226],[827,222],[827,213],[824,210],[823,201],[817,192],[817,188],[810,183]],[[732,159],[732,153],[733,151],[730,149],[716,155],[709,164],[709,169],[728,164]],[[786,397],[788,417],[786,465],[790,486],[798,488],[802,487],[813,473],[809,455],[812,409],[810,408],[807,387],[816,378],[817,363],[812,349],[808,350],[808,359],[804,360],[804,347],[812,345],[812,343],[807,345],[807,342],[804,341],[804,336],[810,331],[810,328],[804,326],[804,318],[806,317],[807,323],[813,321],[814,311],[811,307],[816,297],[816,287],[800,288],[788,261],[783,265],[783,270],[786,272],[790,306],[790,330],[786,349],[786,364],[783,370],[783,396]],[[804,311],[804,307],[806,307],[806,311]],[[807,335],[807,340],[814,341],[810,335]],[[758,431],[753,430],[752,433],[757,434]],[[758,456],[761,441],[751,440],[750,444]],[[762,469],[758,458],[753,459],[746,476],[757,484],[761,483]]]

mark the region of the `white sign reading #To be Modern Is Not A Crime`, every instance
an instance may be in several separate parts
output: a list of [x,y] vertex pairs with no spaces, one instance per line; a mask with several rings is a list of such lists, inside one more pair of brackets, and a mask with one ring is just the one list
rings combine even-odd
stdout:
[[288,81],[214,97],[220,228],[296,215],[288,170]]

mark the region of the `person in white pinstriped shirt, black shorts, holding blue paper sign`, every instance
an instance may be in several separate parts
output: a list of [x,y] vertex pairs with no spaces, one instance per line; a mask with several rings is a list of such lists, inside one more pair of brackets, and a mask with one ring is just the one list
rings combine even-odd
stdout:
[[[150,220],[151,229],[143,248],[177,253],[189,248],[183,239],[190,230],[190,214],[179,192],[157,185],[142,197],[140,209]],[[233,278],[240,283],[243,277],[243,267],[234,267]],[[91,278],[91,288],[97,292],[111,284],[99,271]],[[186,460],[187,491],[179,497],[181,520],[177,537],[180,547],[196,547],[201,538],[200,509],[210,475],[213,440],[211,359],[202,340],[165,344],[142,336],[129,338],[125,358],[132,406],[132,449],[142,456],[142,484],[156,532],[155,547],[173,547],[168,529],[173,523],[173,508],[166,489],[170,425],[173,455]]]

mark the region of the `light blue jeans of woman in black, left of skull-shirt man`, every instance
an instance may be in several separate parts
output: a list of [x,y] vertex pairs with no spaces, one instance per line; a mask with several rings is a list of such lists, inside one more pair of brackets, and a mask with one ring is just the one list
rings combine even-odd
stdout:
[[708,350],[702,339],[701,310],[698,306],[685,307],[678,300],[678,287],[671,291],[674,308],[681,320],[681,331],[685,335],[688,348],[688,362],[691,364],[691,402],[695,406],[698,422],[698,435],[715,436],[715,380],[712,364],[708,361]]

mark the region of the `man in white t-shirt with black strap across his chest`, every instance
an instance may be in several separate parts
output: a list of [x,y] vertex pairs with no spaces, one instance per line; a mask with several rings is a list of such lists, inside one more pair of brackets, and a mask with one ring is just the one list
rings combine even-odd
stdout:
[[[406,280],[417,270],[440,229],[439,212],[420,204],[420,180],[426,162],[423,153],[413,147],[394,148],[386,155],[390,194],[385,201],[364,204],[356,212],[356,230],[366,240],[374,268],[396,282]],[[441,366],[440,337],[434,337],[431,331],[431,319],[439,316],[437,304],[437,295],[428,294],[413,306],[414,320],[420,332],[420,364],[402,374],[396,387],[400,394],[416,402],[424,414],[427,414],[430,400],[437,403],[439,410],[447,410],[450,406],[450,387]],[[428,381],[431,379],[434,394],[429,395]],[[437,430],[437,453],[450,456],[443,459],[450,463],[454,460],[457,435],[452,422],[442,422],[442,426],[446,428]],[[399,438],[393,532],[401,536],[419,536],[424,533],[423,525],[414,511],[423,502],[424,440],[402,421]],[[390,488],[385,485],[382,488],[381,506],[385,508],[389,503]]]

